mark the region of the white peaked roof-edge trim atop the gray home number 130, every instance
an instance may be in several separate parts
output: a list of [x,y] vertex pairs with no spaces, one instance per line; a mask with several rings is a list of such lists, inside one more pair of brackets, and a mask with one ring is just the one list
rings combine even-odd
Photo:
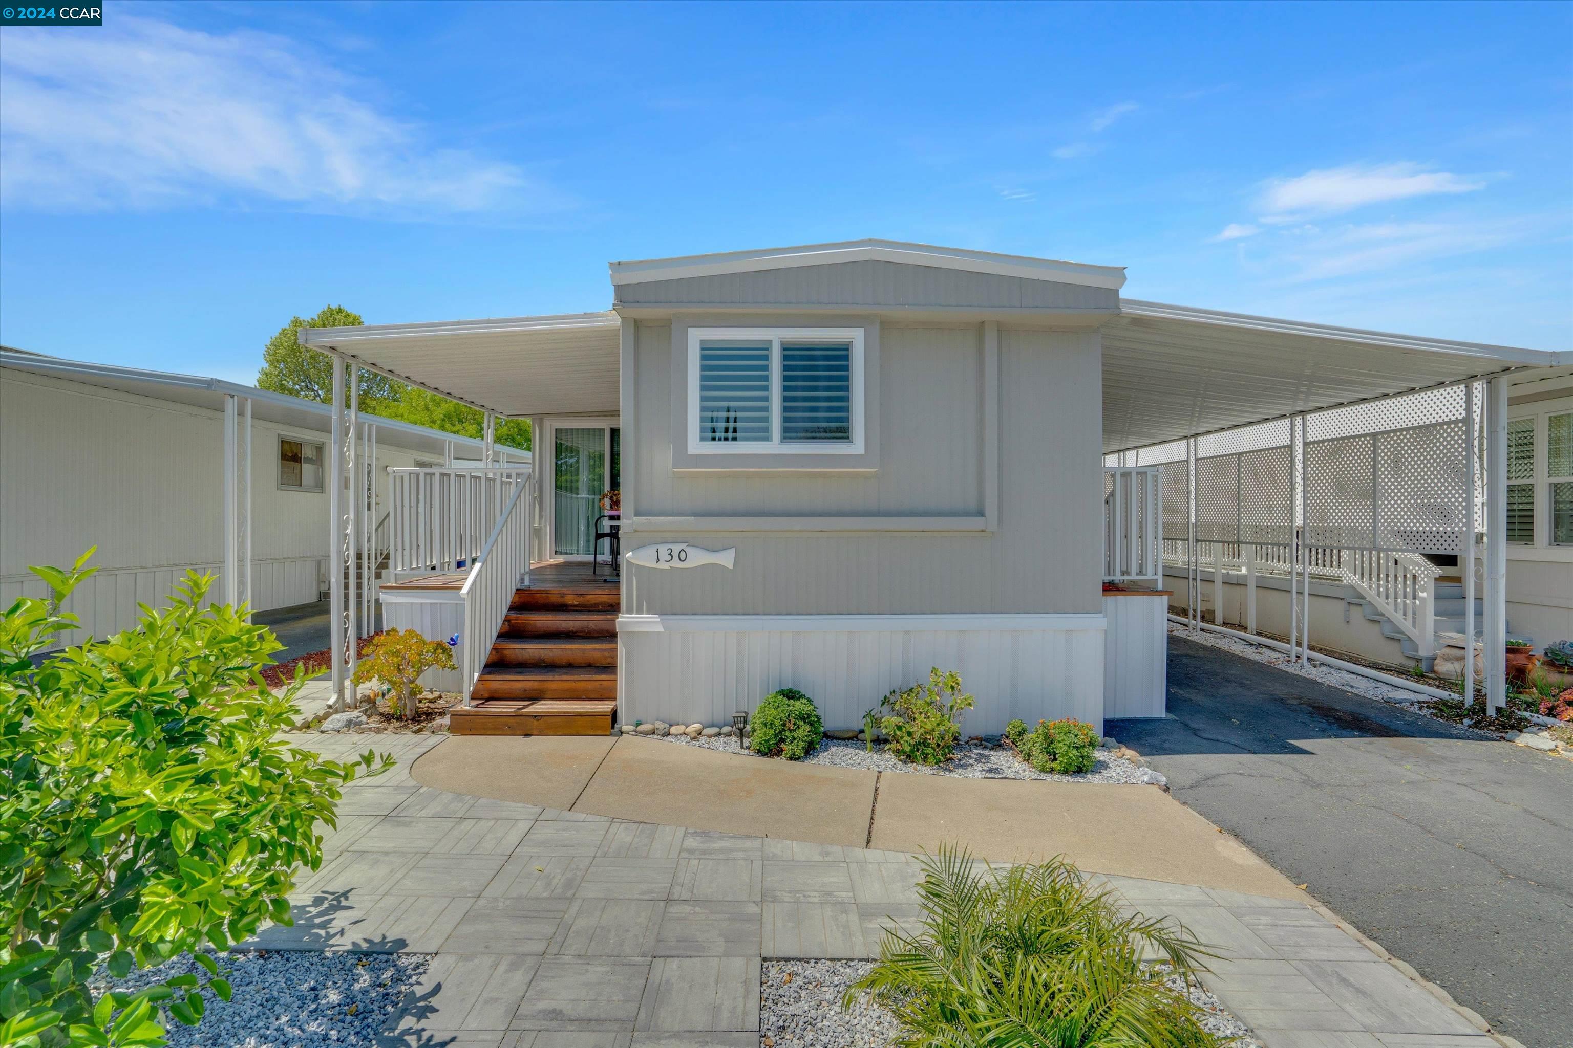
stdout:
[[1085,262],[1060,262],[1026,255],[996,255],[994,251],[969,251],[966,248],[934,247],[931,244],[875,239],[610,262],[607,269],[612,273],[612,286],[618,288],[621,284],[643,284],[654,280],[719,277],[724,273],[870,261],[960,269],[972,273],[1024,277],[1027,280],[1051,280],[1060,284],[1082,284],[1085,288],[1109,288],[1114,291],[1125,286],[1123,266],[1087,266]]

